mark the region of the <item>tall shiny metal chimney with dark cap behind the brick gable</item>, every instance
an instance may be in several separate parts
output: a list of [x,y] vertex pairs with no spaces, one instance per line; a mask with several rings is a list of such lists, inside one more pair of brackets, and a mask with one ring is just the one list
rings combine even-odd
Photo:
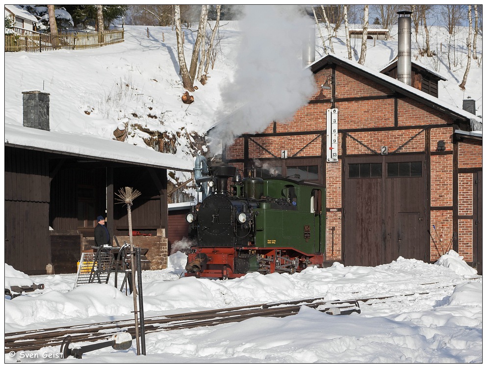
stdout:
[[411,85],[411,12],[398,11],[397,79]]

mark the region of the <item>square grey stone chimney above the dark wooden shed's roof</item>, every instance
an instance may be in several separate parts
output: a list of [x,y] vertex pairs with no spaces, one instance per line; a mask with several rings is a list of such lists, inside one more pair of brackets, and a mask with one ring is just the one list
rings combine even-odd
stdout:
[[49,131],[49,93],[22,92],[24,102],[24,127]]

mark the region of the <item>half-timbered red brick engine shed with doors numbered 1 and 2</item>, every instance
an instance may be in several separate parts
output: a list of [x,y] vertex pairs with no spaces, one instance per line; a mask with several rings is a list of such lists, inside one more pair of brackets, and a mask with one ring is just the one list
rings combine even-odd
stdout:
[[299,168],[325,184],[328,263],[433,262],[453,249],[480,273],[481,118],[348,59],[309,68],[308,104],[240,136],[224,160],[261,177]]

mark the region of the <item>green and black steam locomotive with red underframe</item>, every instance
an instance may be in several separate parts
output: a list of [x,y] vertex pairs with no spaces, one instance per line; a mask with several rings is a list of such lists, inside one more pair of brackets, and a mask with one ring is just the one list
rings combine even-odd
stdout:
[[322,265],[323,186],[286,178],[242,179],[225,164],[207,169],[206,176],[195,170],[197,184],[207,184],[209,193],[186,216],[196,240],[186,276],[226,279]]

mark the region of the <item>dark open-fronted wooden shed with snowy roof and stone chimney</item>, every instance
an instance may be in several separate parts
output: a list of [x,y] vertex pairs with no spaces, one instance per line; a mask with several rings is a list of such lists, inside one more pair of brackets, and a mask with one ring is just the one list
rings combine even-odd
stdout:
[[[26,113],[26,100],[40,104]],[[47,104],[47,105],[46,105]],[[31,119],[26,119],[30,116]],[[5,263],[27,274],[76,272],[92,251],[96,218],[128,242],[127,210],[115,194],[142,194],[132,206],[134,244],[149,248],[151,269],[167,265],[167,170],[191,171],[174,155],[97,136],[49,130],[49,94],[24,95],[24,124],[5,123]],[[120,245],[122,245],[120,244]],[[113,245],[116,245],[114,242]]]

